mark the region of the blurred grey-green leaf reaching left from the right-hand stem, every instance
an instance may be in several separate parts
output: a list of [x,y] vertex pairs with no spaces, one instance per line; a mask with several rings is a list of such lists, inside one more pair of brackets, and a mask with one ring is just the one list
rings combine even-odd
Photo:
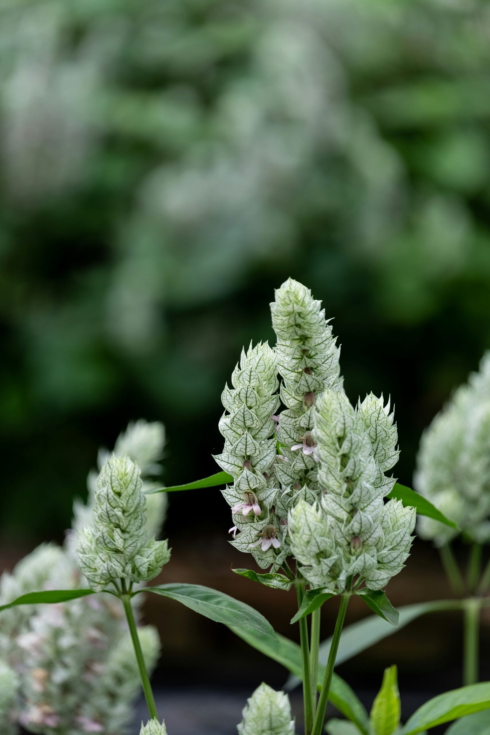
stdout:
[[[393,635],[397,630],[408,625],[412,620],[416,620],[420,615],[424,615],[427,612],[439,612],[440,610],[460,609],[461,600],[436,600],[434,602],[404,605],[398,609],[399,617],[397,628],[394,628],[393,625],[387,623],[382,617],[368,615],[368,617],[364,617],[363,620],[359,620],[358,623],[352,623],[352,625],[347,625],[347,627],[344,628],[335,664],[338,666],[344,661],[352,659],[353,656],[357,656],[358,653],[362,653],[363,650],[370,648],[370,646],[375,645],[375,643],[383,640],[383,638]],[[323,665],[327,662],[331,642],[332,639],[328,638],[320,645],[320,663]],[[286,689],[291,691],[291,689],[294,689],[298,684],[300,684],[300,680],[290,676],[286,684]]]

